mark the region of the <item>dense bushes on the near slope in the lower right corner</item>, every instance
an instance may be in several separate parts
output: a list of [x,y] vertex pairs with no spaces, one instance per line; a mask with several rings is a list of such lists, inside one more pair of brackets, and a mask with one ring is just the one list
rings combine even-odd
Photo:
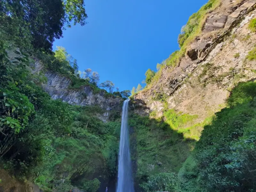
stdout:
[[[171,169],[165,168],[168,172],[152,173],[141,187],[149,192],[254,191],[256,82],[238,84],[227,103],[228,107],[216,113],[211,124],[204,126],[200,140],[177,177]],[[175,119],[187,122],[193,118],[173,119],[172,124],[178,122]]]

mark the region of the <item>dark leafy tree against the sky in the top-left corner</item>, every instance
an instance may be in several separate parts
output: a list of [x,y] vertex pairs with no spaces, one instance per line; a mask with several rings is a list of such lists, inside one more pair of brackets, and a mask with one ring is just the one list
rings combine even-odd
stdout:
[[[27,40],[34,48],[51,50],[54,39],[62,37],[64,25],[85,24],[84,0],[3,0],[0,27],[9,40]],[[14,38],[13,38],[14,37]]]

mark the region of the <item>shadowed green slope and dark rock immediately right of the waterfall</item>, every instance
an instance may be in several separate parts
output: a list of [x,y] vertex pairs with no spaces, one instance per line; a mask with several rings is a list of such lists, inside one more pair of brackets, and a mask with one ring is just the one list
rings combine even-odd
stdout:
[[143,100],[131,100],[129,126],[132,170],[135,191],[140,192],[139,184],[159,172],[178,172],[190,154],[191,145],[196,140],[184,138],[182,133],[172,130],[164,118],[149,118],[135,113],[149,111]]

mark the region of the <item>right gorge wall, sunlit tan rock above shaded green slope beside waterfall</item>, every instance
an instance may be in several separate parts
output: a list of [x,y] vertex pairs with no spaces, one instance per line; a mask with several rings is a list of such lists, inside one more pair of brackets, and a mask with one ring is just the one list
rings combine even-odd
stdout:
[[175,65],[162,66],[133,96],[137,183],[158,172],[179,172],[204,126],[227,106],[232,89],[256,78],[256,60],[248,59],[256,46],[256,34],[248,28],[256,17],[255,0],[215,2],[218,6],[206,11],[200,32],[181,47],[179,52],[185,51]]

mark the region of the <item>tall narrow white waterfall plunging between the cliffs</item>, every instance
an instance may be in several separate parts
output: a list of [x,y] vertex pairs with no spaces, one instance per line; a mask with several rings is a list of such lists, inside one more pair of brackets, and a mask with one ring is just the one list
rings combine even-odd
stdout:
[[132,180],[132,163],[129,148],[130,142],[128,130],[128,104],[129,100],[125,100],[122,112],[116,192],[134,192]]

